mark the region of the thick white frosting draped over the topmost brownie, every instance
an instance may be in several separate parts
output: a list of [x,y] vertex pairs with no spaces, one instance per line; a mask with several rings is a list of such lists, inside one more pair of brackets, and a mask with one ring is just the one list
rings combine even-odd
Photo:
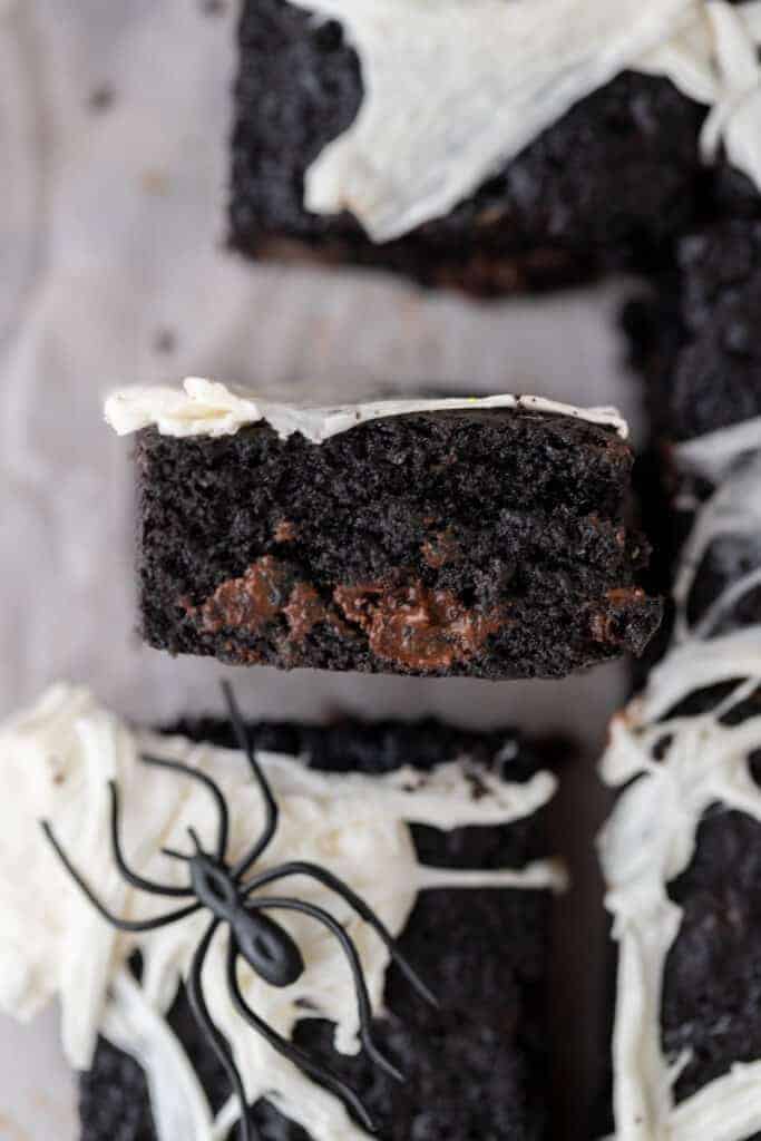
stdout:
[[375,242],[447,215],[626,68],[711,107],[706,160],[761,186],[758,0],[294,0],[357,50],[354,123],[314,161],[305,204],[350,210]]

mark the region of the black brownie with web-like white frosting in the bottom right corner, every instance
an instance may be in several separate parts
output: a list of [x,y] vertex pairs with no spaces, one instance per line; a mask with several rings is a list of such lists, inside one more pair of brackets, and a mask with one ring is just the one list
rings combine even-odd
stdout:
[[758,1141],[761,1085],[736,1067],[761,1059],[761,626],[673,649],[602,771],[637,776],[601,836],[622,944],[616,1125]]

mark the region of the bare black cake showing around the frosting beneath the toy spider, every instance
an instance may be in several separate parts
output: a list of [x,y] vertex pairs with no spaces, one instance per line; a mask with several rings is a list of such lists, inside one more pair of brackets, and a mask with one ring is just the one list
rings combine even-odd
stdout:
[[[227,723],[185,725],[196,739],[234,747]],[[343,722],[330,728],[252,727],[258,747],[299,754],[331,771],[388,772],[405,764],[429,769],[468,755],[527,779],[537,754],[511,730],[464,733],[435,721],[412,725]],[[511,759],[504,762],[505,744]],[[515,747],[513,747],[515,746]],[[523,867],[547,853],[545,810],[500,827],[444,833],[414,826],[421,860],[443,867]],[[351,1082],[387,1141],[541,1141],[551,1136],[548,1086],[545,971],[550,901],[545,891],[437,890],[419,897],[400,946],[437,993],[434,1010],[411,993],[395,968],[388,973],[389,1018],[375,1037],[408,1075],[397,1085],[363,1055],[332,1046],[329,1022],[299,1025],[297,1041]],[[217,1108],[229,1089],[180,995],[171,1015]],[[80,1087],[82,1141],[155,1141],[143,1071],[102,1042]],[[256,1110],[267,1141],[308,1141],[268,1103]],[[235,1133],[233,1134],[233,1136]]]

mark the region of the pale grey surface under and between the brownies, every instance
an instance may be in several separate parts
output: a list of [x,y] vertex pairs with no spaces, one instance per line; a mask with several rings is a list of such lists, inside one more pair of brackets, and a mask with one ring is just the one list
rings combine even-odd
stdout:
[[[536,391],[617,403],[638,421],[615,332],[625,283],[477,306],[380,275],[225,254],[235,6],[220,7],[0,2],[0,147],[10,159],[0,269],[11,286],[0,293],[0,714],[62,677],[141,720],[217,705],[212,663],[169,659],[132,633],[129,444],[100,412],[115,385],[201,373],[319,400]],[[605,799],[593,761],[625,669],[513,685],[252,670],[236,686],[256,717],[439,713],[577,741],[556,814],[575,885],[558,906],[553,1002],[553,1035],[567,1044],[559,1100],[577,1139],[604,1049],[591,843]],[[75,1135],[56,1012],[22,1028],[0,1019],[0,1139]]]

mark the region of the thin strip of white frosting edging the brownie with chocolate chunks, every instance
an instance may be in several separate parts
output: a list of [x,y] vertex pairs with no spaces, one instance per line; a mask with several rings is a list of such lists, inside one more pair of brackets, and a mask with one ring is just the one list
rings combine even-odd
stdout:
[[201,377],[188,377],[183,388],[132,386],[113,393],[105,403],[106,422],[119,436],[155,427],[162,436],[230,436],[245,424],[265,420],[281,439],[301,432],[313,444],[349,431],[370,420],[402,416],[412,412],[520,408],[551,415],[572,416],[613,428],[623,439],[629,426],[616,408],[578,408],[543,396],[469,396],[431,400],[377,400],[309,407],[261,399],[254,393]]

